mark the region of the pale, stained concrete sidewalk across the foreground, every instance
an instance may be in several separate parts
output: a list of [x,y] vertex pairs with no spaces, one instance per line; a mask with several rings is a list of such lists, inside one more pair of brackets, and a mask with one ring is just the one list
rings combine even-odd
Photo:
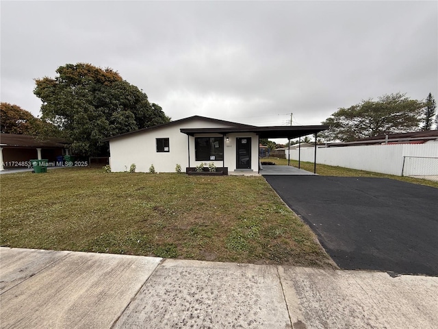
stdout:
[[436,328],[438,278],[0,248],[1,328]]

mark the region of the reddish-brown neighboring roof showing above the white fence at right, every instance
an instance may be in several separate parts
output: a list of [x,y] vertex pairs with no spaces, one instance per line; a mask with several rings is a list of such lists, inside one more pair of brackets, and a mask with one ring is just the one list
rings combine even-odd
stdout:
[[385,144],[424,144],[437,143],[438,130],[425,130],[422,132],[401,132],[399,134],[386,134],[362,138],[347,143],[327,143],[326,147],[343,147],[359,145],[385,145]]

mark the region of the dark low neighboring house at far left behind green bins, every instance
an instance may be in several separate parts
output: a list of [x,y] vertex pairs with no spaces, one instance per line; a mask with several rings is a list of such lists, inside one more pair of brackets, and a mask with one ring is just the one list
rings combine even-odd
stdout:
[[64,138],[0,134],[0,170],[28,167],[31,159],[55,162],[57,156],[68,154],[68,146]]

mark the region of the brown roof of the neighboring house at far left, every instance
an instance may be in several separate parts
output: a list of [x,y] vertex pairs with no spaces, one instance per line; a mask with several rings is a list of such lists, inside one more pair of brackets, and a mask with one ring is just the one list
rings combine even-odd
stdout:
[[18,134],[0,134],[1,147],[44,147],[58,148],[66,147],[70,142],[64,138],[40,138],[38,136],[18,135]]

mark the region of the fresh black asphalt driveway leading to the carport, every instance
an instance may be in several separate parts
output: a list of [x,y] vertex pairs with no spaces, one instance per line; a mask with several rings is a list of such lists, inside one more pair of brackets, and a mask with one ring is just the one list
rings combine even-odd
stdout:
[[387,178],[265,179],[342,269],[438,276],[438,188]]

